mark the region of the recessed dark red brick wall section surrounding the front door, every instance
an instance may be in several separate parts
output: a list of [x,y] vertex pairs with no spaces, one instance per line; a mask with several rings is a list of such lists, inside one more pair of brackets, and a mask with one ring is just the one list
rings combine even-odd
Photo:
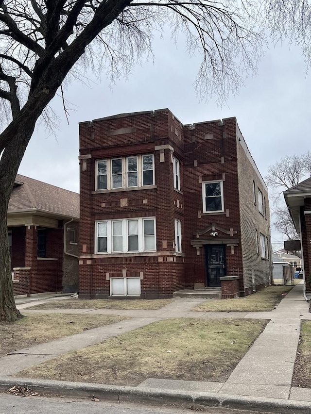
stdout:
[[[212,134],[212,138],[205,139],[207,134]],[[190,245],[190,241],[196,239],[196,231],[203,232],[214,224],[226,231],[232,228],[237,233],[231,238],[238,239],[239,243],[241,240],[235,118],[225,120],[224,124],[211,121],[185,126],[184,145],[185,279],[186,287],[192,289],[194,283],[207,285],[205,248],[200,248],[200,255],[197,255],[196,249]],[[221,181],[223,178],[225,212],[204,214],[202,182]],[[216,237],[210,232],[199,237],[203,245],[214,241],[222,244],[223,239],[230,239],[228,234],[219,230]],[[225,252],[225,276],[242,276],[241,243],[235,247],[234,255],[229,247]]]

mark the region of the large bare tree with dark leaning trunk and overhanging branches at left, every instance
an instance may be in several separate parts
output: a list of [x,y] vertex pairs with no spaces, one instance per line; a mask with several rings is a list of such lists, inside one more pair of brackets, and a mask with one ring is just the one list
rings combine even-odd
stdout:
[[[256,71],[264,33],[291,33],[308,44],[309,6],[300,1],[255,0],[0,0],[0,319],[15,307],[6,228],[8,201],[35,123],[68,76],[83,67],[110,76],[128,74],[152,54],[155,30],[186,36],[203,57],[202,94],[220,99]],[[305,55],[309,59],[309,50]],[[97,65],[97,67],[96,67]],[[96,69],[95,69],[96,68]],[[47,117],[47,116],[46,116]],[[8,118],[8,121],[6,119]]]

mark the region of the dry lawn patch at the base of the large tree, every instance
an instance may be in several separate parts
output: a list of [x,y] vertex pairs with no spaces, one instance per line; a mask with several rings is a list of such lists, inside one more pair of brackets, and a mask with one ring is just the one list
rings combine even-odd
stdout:
[[123,319],[126,317],[116,315],[31,314],[14,324],[0,322],[0,357]]

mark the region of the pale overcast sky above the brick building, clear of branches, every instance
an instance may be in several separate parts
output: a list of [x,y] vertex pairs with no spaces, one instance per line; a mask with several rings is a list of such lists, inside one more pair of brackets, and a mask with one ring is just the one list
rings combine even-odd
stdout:
[[[184,123],[236,116],[251,154],[264,177],[270,164],[310,149],[311,74],[298,47],[267,50],[258,74],[248,78],[236,97],[218,107],[216,99],[200,102],[193,83],[200,56],[190,57],[182,44],[155,41],[155,62],[133,68],[127,80],[71,83],[69,125],[61,99],[53,108],[60,117],[56,138],[39,126],[26,150],[19,173],[72,191],[79,191],[78,122],[124,112],[169,108]],[[272,242],[281,236],[272,232]]]

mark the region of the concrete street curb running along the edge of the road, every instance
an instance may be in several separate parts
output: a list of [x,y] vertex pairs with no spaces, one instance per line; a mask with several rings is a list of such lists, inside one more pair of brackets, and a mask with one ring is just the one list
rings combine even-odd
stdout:
[[277,398],[242,397],[215,393],[176,392],[137,387],[114,386],[88,382],[47,381],[27,378],[0,377],[0,392],[14,385],[28,386],[34,392],[53,396],[87,398],[95,396],[102,401],[132,402],[181,408],[221,407],[238,410],[258,410],[282,414],[311,414],[311,404]]

